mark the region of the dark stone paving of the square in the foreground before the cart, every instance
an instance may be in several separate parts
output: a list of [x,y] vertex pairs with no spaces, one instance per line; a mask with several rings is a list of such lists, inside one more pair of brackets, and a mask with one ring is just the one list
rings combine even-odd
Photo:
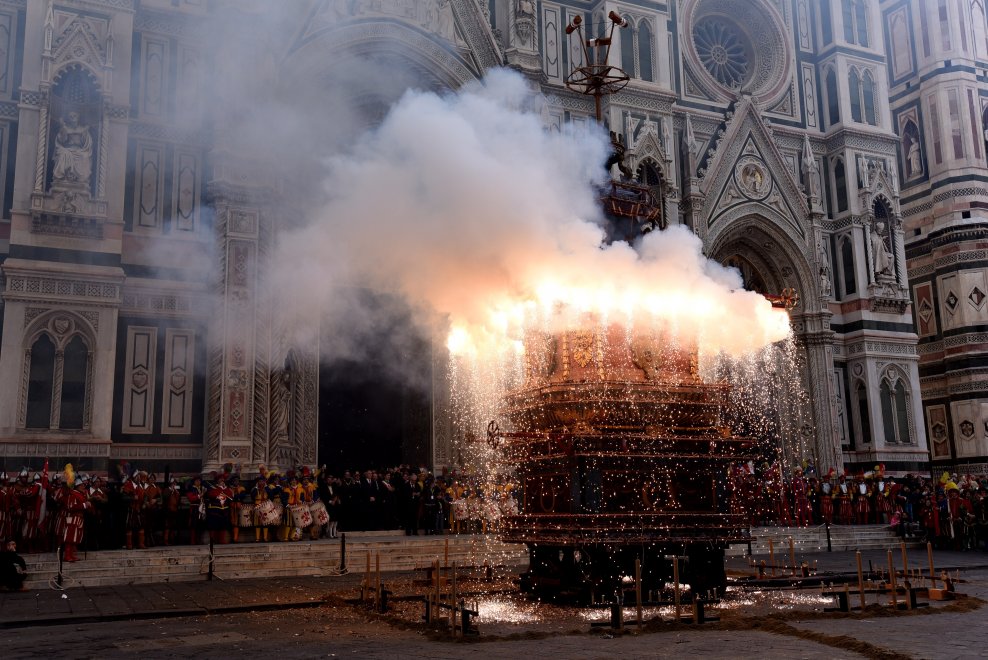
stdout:
[[[883,552],[863,553],[877,563]],[[851,571],[854,553],[807,555],[821,570]],[[898,564],[898,557],[897,564]],[[925,561],[925,552],[910,565]],[[735,560],[746,566],[746,560]],[[938,569],[961,569],[958,590],[988,600],[988,555],[937,553]],[[395,575],[395,574],[392,574]],[[407,576],[408,574],[404,574]],[[589,626],[494,641],[433,641],[347,606],[323,604],[360,575],[82,587],[0,593],[3,658],[978,658],[988,657],[988,610],[931,615],[805,619],[792,613],[759,629],[669,627],[612,636]],[[317,607],[318,606],[318,607]],[[771,619],[771,617],[769,617]],[[743,628],[743,626],[741,626]],[[818,634],[813,640],[800,635]],[[855,640],[870,646],[851,646]]]

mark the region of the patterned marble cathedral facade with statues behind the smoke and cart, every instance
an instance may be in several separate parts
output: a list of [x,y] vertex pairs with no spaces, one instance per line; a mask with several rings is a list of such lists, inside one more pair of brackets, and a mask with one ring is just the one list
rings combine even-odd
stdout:
[[[370,126],[508,66],[547,130],[588,124],[566,28],[611,12],[625,163],[748,288],[798,292],[805,457],[988,472],[981,0],[0,0],[0,465],[325,462],[319,351],[265,295],[291,182],[230,128],[238,92],[373,61],[386,93],[339,88]],[[432,360],[414,459],[438,467]]]

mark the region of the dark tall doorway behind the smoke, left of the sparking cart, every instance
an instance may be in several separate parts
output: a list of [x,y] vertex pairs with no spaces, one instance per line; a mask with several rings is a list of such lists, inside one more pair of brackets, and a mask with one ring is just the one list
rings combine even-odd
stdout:
[[363,289],[343,296],[346,311],[322,329],[319,463],[334,474],[428,466],[431,342],[393,296]]

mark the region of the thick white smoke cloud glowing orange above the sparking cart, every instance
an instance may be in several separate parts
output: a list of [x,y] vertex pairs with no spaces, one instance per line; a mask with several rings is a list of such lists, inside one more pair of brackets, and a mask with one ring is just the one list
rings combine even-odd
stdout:
[[329,158],[326,202],[282,233],[273,260],[274,290],[293,291],[301,318],[296,341],[327,318],[360,316],[341,287],[398,294],[424,324],[448,319],[464,349],[516,337],[533,310],[651,318],[707,352],[786,336],[786,315],[684,228],[603,246],[592,184],[606,176],[607,138],[546,131],[538,100],[506,70],[456,94],[409,92]]

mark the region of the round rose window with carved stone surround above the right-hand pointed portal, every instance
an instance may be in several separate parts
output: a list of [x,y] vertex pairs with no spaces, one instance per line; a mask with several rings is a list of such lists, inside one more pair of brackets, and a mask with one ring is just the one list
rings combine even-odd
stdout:
[[685,12],[686,55],[704,91],[769,103],[789,91],[791,54],[782,17],[758,0],[694,0]]

